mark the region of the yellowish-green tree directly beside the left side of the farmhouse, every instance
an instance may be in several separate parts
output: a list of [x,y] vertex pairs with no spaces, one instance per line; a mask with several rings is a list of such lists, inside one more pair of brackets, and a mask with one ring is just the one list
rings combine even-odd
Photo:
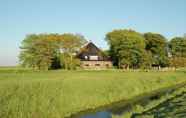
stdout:
[[75,55],[87,41],[82,35],[63,34],[61,37],[61,66],[65,69],[75,69],[80,63]]

